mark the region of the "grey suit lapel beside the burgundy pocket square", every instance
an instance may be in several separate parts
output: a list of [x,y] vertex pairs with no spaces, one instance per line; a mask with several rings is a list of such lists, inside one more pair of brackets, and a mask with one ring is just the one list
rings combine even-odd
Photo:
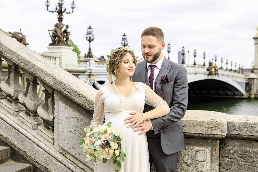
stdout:
[[158,76],[156,77],[155,79],[155,91],[156,93],[163,99],[163,94],[161,92],[161,77],[164,76],[164,75],[167,75],[168,72],[170,71],[171,69],[171,65],[170,65],[170,62],[169,60],[164,56],[164,60],[161,64],[161,69],[159,71],[159,74]]

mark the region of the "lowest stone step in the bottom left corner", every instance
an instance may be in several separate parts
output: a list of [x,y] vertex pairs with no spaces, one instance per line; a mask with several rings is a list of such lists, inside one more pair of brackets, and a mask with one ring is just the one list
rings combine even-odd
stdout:
[[9,160],[0,165],[0,172],[31,172],[31,165]]

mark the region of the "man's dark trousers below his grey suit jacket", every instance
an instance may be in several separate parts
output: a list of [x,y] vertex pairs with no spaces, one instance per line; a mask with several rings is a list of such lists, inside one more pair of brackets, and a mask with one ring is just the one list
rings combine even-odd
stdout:
[[166,155],[162,148],[160,137],[148,137],[150,171],[154,162],[156,172],[177,172],[178,153]]

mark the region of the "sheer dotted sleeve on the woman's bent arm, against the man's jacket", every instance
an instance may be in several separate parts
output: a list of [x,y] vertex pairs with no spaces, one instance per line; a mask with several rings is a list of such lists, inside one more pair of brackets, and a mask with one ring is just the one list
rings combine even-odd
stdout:
[[143,84],[145,90],[145,103],[152,107],[163,107],[167,110],[167,113],[170,112],[170,108],[167,105],[167,102],[163,100],[159,95],[157,95],[148,85]]

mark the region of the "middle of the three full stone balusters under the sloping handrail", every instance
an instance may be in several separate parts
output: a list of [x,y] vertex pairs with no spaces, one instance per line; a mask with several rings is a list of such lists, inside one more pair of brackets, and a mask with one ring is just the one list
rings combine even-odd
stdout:
[[26,91],[19,94],[19,102],[26,108],[26,112],[19,113],[19,120],[29,126],[31,129],[36,130],[38,126],[43,124],[43,120],[38,117],[38,107],[43,105],[44,102],[38,97],[37,78],[26,74]]

